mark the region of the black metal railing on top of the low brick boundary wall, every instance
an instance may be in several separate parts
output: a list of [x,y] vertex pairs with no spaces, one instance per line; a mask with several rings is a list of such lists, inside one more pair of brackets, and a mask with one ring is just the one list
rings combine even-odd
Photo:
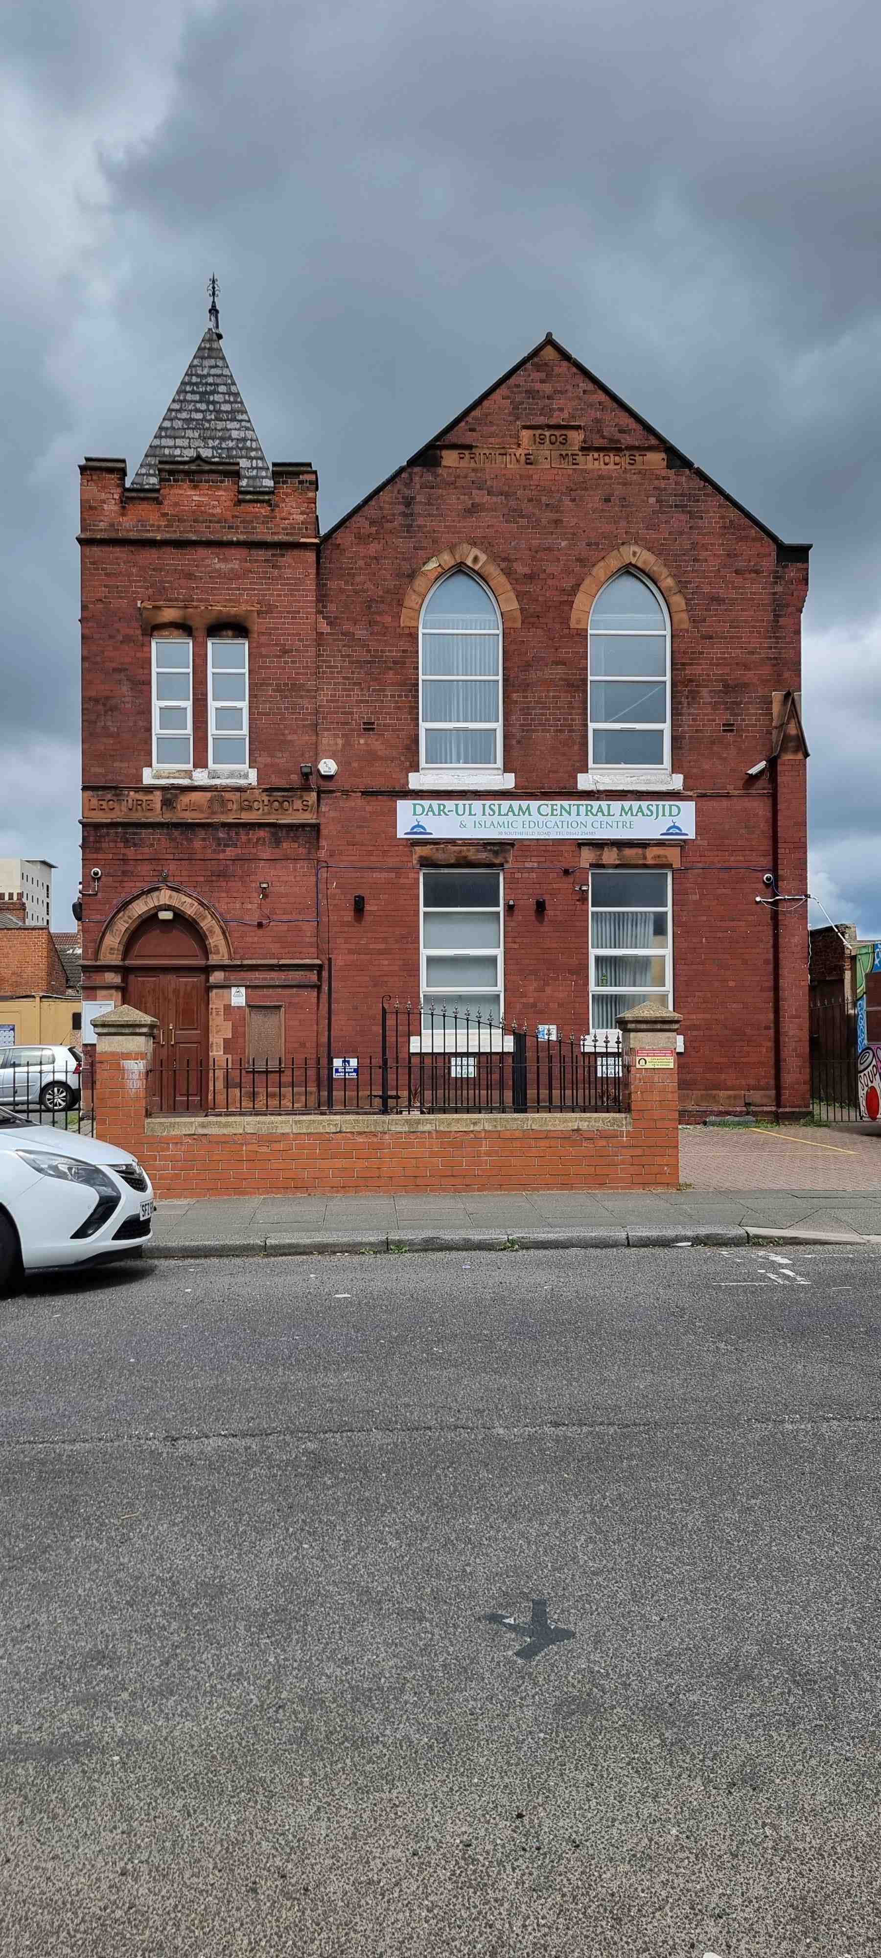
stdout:
[[204,1061],[161,1049],[151,1108],[166,1114],[617,1114],[628,1108],[615,1034],[560,1034],[382,1001],[378,1051]]

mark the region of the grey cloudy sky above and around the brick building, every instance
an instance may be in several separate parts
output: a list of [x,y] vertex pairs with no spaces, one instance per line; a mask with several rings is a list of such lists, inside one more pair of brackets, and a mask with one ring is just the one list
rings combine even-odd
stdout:
[[873,0],[29,0],[0,78],[0,854],[78,879],[82,454],[129,470],[221,280],[327,527],[550,327],[812,540],[811,887],[881,934]]

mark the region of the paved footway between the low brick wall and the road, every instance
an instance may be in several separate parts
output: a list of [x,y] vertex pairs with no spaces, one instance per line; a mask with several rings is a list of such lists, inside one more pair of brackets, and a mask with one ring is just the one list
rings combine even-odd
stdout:
[[881,1130],[683,1128],[679,1190],[161,1202],[159,1257],[881,1241]]

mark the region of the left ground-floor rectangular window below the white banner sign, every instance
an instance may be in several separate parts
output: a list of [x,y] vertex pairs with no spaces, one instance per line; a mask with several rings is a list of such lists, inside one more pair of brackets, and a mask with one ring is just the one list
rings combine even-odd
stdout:
[[482,1028],[499,1026],[501,871],[423,869],[421,961],[423,1034],[466,1046],[480,1044]]

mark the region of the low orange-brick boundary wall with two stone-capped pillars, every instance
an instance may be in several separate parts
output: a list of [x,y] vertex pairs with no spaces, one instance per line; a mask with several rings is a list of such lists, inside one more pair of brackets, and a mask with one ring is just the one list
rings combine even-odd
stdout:
[[[96,1138],[131,1149],[159,1198],[679,1185],[679,1016],[666,1008],[621,1020],[630,1114],[149,1116],[155,1026],[131,1006],[96,1020]],[[672,1065],[652,1067],[658,1051]]]

